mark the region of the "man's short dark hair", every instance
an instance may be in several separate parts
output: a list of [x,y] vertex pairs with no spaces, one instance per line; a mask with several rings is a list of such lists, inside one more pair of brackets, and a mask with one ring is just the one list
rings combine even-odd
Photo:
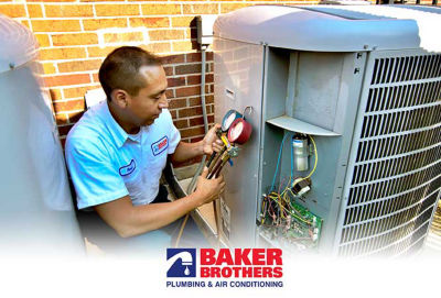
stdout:
[[98,74],[107,100],[111,100],[111,91],[115,89],[137,96],[146,87],[139,68],[151,65],[162,65],[161,59],[140,47],[122,46],[114,49],[103,62]]

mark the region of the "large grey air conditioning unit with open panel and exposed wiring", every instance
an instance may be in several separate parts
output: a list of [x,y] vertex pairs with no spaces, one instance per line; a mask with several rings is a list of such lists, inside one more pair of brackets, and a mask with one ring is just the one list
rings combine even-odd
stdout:
[[440,13],[257,5],[217,19],[215,120],[251,107],[254,128],[224,172],[228,245],[422,247],[441,187]]

